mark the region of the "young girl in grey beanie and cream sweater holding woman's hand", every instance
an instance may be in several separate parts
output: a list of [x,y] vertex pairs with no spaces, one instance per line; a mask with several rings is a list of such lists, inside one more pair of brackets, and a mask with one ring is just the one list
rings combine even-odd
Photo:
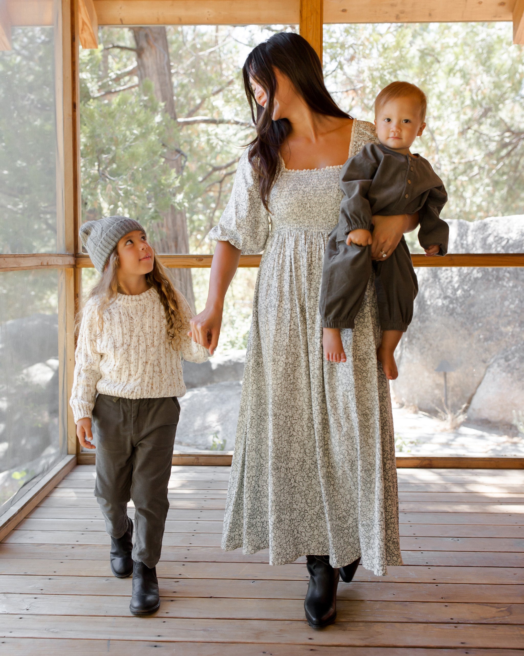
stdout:
[[80,236],[102,279],[84,307],[70,403],[81,445],[95,449],[96,436],[94,495],[111,535],[111,570],[119,578],[133,574],[130,611],[149,615],[160,606],[155,566],[169,509],[177,397],[185,394],[180,358],[203,362],[208,352],[188,337],[187,301],[138,221],[89,221]]

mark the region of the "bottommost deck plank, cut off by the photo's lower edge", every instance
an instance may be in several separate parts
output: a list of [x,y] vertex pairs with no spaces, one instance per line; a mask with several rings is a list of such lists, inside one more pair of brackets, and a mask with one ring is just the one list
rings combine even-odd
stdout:
[[[108,646],[105,640],[71,640],[46,638],[3,638],[2,644],[9,653],[17,656],[93,656],[93,654],[106,653]],[[165,646],[159,642],[134,642],[132,640],[111,640],[111,653],[113,656],[143,656],[150,650]],[[217,646],[208,642],[179,642],[177,647],[183,656],[218,656]],[[172,652],[174,653],[174,652]],[[237,644],[227,645],[227,656],[304,656],[302,645],[275,645],[275,644]],[[424,649],[405,647],[389,647],[388,656],[522,656],[520,649]],[[382,647],[322,647],[314,648],[314,656],[384,656]]]

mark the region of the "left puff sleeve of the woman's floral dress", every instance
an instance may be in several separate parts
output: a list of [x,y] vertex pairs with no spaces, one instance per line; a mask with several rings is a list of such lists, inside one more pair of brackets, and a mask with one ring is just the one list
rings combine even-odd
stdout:
[[208,239],[229,241],[244,255],[256,255],[264,250],[268,237],[269,215],[262,204],[258,178],[245,150],[238,162],[229,202]]

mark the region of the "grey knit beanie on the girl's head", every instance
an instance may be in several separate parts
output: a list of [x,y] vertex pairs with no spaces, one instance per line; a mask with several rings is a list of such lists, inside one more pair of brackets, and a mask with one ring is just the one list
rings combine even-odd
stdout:
[[80,228],[80,238],[97,271],[103,273],[109,255],[113,253],[117,243],[133,230],[143,228],[138,221],[128,216],[106,216],[98,221],[83,224]]

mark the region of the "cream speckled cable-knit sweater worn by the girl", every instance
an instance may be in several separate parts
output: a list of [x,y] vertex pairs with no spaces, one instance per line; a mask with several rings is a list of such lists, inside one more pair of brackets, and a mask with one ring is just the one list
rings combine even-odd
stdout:
[[[117,295],[103,313],[98,329],[97,301],[88,300],[75,352],[71,407],[75,422],[91,417],[96,393],[124,399],[183,396],[181,356],[204,362],[209,354],[181,335],[181,350],[167,340],[164,307],[155,289],[137,296]],[[179,295],[180,310],[189,329],[191,310]]]

